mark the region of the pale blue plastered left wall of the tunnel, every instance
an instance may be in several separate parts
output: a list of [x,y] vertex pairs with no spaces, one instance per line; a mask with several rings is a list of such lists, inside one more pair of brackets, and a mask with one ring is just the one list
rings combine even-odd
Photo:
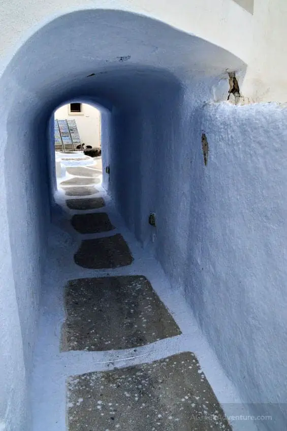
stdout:
[[0,424],[5,431],[25,429],[28,423],[28,381],[49,218],[46,154],[39,148],[45,128],[38,127],[45,120],[39,112],[31,117],[23,112],[27,101],[35,109],[35,95],[13,79],[6,84],[0,106]]

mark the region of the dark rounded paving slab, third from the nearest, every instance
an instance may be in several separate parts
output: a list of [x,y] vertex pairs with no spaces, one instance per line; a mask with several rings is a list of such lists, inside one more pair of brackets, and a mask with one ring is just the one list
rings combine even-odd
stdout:
[[122,235],[85,239],[74,256],[75,263],[83,268],[105,269],[130,265],[133,257]]

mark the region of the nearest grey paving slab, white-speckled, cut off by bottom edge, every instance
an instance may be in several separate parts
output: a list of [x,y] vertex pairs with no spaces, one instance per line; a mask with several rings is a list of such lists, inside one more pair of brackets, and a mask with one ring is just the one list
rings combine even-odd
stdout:
[[69,431],[232,431],[194,353],[72,376]]

